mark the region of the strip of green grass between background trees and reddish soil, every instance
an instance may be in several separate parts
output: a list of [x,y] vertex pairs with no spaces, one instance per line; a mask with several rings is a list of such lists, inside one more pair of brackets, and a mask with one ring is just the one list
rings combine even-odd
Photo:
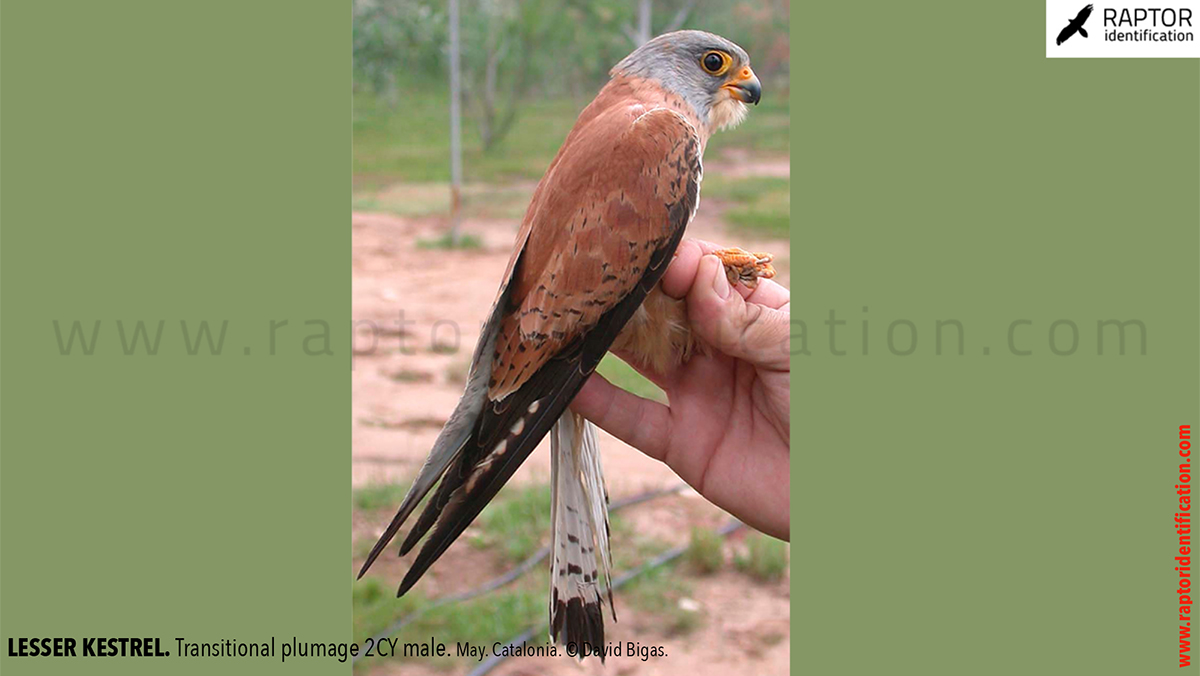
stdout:
[[[450,137],[444,91],[406,92],[396,107],[373,94],[354,95],[353,208],[400,216],[450,210]],[[470,125],[463,126],[463,214],[520,219],[533,186],[550,166],[586,101],[533,97],[522,103],[511,131],[484,151]],[[725,151],[787,152],[787,92],[757,106],[752,120],[713,137],[706,158]],[[744,184],[737,187],[738,184]],[[715,187],[714,187],[715,186]],[[767,191],[762,195],[760,191]],[[739,203],[733,210],[748,228],[764,227],[786,237],[787,179],[704,179],[703,198]],[[761,202],[761,203],[760,203]],[[780,215],[781,214],[781,215]]]

